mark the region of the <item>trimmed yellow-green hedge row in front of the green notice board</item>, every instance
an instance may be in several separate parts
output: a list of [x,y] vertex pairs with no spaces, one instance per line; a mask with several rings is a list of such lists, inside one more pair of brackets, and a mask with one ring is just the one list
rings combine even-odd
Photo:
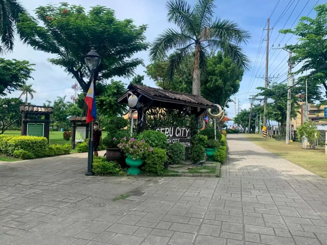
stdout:
[[48,145],[44,137],[37,136],[0,136],[0,151],[2,154],[21,159],[33,159],[54,155],[69,154],[71,145]]

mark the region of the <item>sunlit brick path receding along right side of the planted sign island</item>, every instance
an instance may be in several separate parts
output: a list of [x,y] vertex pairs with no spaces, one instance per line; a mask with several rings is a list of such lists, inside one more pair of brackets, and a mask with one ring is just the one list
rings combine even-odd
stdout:
[[223,177],[320,178],[290,161],[257,146],[242,134],[227,136],[227,163]]

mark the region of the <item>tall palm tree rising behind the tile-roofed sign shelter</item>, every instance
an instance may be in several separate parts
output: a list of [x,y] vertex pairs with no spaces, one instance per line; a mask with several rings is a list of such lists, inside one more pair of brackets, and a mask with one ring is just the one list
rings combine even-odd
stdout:
[[194,54],[192,93],[200,95],[200,71],[206,68],[206,57],[210,49],[222,50],[224,55],[230,56],[240,67],[250,69],[250,59],[239,46],[247,43],[250,33],[233,21],[220,18],[213,20],[216,7],[214,0],[198,0],[193,8],[185,0],[169,0],[166,6],[168,22],[176,24],[180,31],[166,29],[153,42],[149,56],[155,61],[166,57],[171,49],[176,48],[177,52],[168,58],[170,80],[181,62]]

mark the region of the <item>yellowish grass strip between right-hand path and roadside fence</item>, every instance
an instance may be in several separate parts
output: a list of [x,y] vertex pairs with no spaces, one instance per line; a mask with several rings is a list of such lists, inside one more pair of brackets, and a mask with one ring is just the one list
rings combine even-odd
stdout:
[[323,178],[327,178],[327,155],[325,155],[324,147],[316,150],[307,150],[302,149],[301,144],[298,142],[286,145],[284,140],[264,139],[262,136],[255,134],[243,135],[265,150],[281,156]]

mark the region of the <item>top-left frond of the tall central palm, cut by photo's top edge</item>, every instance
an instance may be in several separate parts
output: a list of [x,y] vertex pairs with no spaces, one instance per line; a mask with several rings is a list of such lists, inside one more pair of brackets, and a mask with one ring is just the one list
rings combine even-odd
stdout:
[[176,24],[188,35],[198,36],[197,25],[194,22],[193,10],[191,5],[185,0],[170,0],[166,4],[168,10],[167,20],[169,23]]

